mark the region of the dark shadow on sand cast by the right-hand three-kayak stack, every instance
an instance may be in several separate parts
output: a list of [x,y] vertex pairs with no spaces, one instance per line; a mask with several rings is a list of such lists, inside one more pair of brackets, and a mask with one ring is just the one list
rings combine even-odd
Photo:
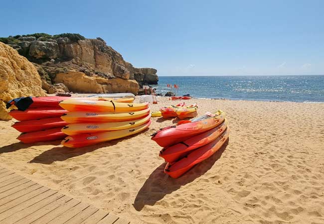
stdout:
[[172,192],[178,190],[181,186],[194,181],[197,177],[200,177],[206,173],[221,157],[222,153],[226,149],[226,146],[228,145],[228,142],[229,139],[227,139],[224,145],[217,152],[215,152],[215,154],[205,161],[197,164],[191,170],[177,179],[172,179],[165,174],[163,171],[166,163],[161,164],[153,171],[140,189],[133,204],[134,208],[137,211],[141,211],[145,205],[153,206],[158,201],[163,199],[165,195],[171,194]]

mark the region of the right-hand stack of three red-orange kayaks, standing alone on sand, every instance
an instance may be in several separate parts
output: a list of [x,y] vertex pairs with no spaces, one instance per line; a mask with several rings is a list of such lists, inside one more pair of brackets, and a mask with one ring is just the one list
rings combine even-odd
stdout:
[[167,162],[164,173],[178,178],[219,150],[228,136],[225,112],[218,110],[162,128],[152,140],[163,147],[160,156]]

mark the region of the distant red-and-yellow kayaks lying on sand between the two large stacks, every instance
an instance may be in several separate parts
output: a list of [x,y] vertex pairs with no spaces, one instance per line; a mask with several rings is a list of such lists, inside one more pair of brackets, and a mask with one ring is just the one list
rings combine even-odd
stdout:
[[192,118],[197,115],[197,104],[185,107],[184,103],[160,109],[163,118],[178,117],[179,119]]

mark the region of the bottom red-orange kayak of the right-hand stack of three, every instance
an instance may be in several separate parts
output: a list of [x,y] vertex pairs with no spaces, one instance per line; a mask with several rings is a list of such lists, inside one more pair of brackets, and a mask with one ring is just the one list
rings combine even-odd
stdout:
[[212,156],[216,151],[222,147],[224,142],[227,140],[229,135],[228,128],[218,137],[216,140],[204,145],[194,151],[192,151],[188,156],[179,161],[170,164],[167,163],[164,169],[164,173],[168,174],[172,178],[178,178],[187,172],[191,167],[197,163]]

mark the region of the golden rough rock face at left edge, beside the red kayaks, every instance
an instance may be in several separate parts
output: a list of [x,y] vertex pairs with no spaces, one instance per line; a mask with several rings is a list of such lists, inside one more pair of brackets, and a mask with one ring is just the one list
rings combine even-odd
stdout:
[[16,50],[0,42],[0,119],[11,119],[5,102],[27,96],[45,96],[37,70]]

